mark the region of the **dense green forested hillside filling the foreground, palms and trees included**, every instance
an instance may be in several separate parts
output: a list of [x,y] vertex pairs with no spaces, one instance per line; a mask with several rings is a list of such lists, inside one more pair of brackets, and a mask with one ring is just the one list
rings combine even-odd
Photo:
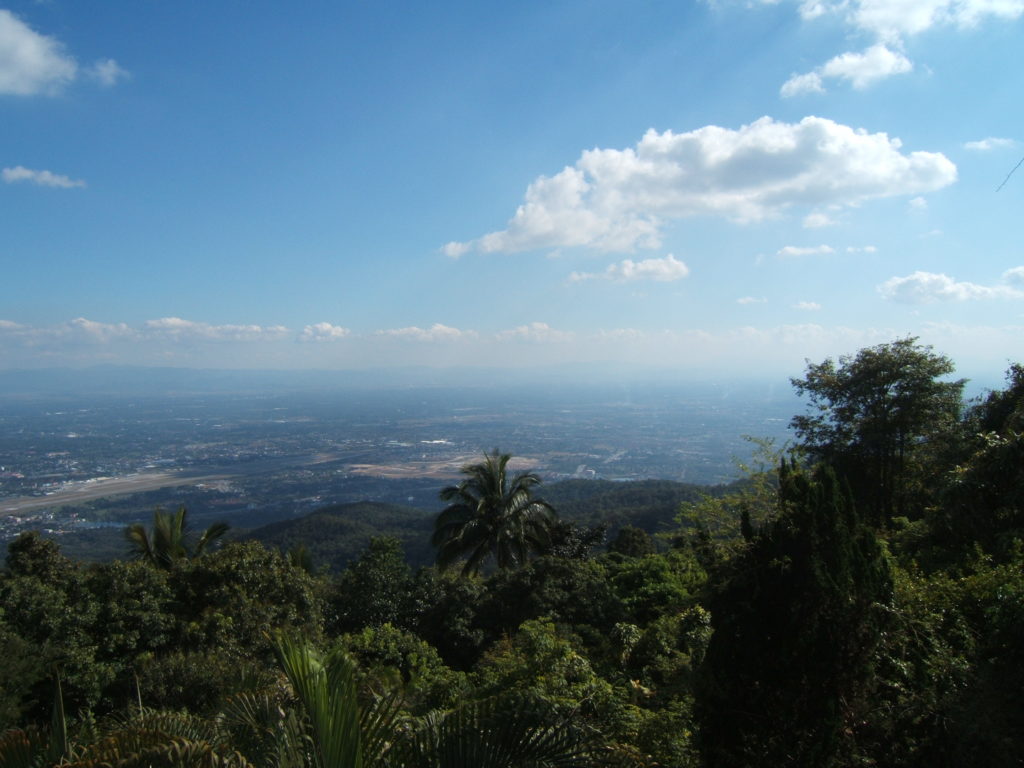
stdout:
[[496,452],[340,572],[331,526],[406,513],[91,565],[24,535],[0,765],[1020,765],[1024,368],[969,403],[952,373],[914,339],[810,364],[793,451],[610,530],[628,490]]

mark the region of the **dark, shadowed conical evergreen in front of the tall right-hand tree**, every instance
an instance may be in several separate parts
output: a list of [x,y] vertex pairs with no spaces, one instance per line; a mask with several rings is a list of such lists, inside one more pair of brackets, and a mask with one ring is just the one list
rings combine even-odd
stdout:
[[830,470],[783,465],[780,500],[709,600],[709,766],[835,764],[866,707],[892,596],[883,550]]

